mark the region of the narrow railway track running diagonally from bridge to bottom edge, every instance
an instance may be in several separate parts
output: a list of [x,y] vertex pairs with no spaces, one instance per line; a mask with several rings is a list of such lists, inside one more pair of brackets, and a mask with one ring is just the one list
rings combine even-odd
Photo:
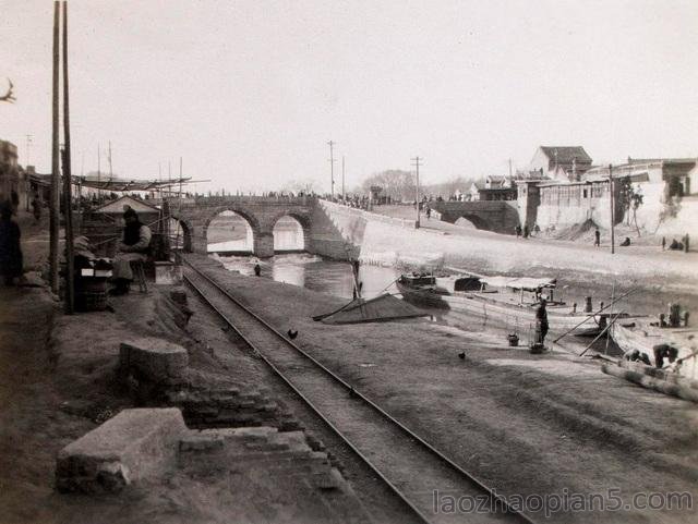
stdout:
[[[528,523],[491,488],[288,340],[225,287],[188,264],[184,279],[422,522]],[[434,502],[452,496],[454,511]],[[461,507],[458,507],[458,501]],[[472,502],[472,503],[471,503]],[[482,509],[474,511],[474,503]],[[472,511],[469,511],[472,510]]]

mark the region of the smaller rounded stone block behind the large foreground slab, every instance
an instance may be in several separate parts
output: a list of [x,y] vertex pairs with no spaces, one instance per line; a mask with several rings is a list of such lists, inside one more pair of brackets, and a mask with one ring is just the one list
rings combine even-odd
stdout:
[[155,383],[180,383],[189,367],[189,354],[181,345],[144,337],[121,343],[119,363],[124,371]]

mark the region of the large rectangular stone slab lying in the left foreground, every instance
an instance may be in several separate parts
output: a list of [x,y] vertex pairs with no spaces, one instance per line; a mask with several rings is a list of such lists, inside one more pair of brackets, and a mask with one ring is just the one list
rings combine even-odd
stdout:
[[56,463],[60,491],[118,491],[176,465],[186,431],[176,407],[124,410],[63,448]]

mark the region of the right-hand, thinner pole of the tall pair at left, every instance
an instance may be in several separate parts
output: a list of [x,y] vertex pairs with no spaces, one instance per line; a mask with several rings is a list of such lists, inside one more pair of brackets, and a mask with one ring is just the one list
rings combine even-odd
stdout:
[[63,202],[65,221],[65,313],[75,312],[75,261],[73,259],[73,172],[70,159],[70,105],[68,92],[68,2],[63,0]]

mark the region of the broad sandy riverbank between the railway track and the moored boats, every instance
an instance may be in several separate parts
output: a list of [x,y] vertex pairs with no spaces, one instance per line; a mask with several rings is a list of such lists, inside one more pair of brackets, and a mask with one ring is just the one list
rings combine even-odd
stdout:
[[[429,321],[313,322],[339,301],[210,264],[255,310],[282,331],[298,329],[304,349],[502,493],[617,488],[630,503],[635,493],[695,489],[695,404],[605,376],[598,363],[558,352],[533,356],[486,332]],[[628,510],[556,513],[552,522],[694,519]]]

